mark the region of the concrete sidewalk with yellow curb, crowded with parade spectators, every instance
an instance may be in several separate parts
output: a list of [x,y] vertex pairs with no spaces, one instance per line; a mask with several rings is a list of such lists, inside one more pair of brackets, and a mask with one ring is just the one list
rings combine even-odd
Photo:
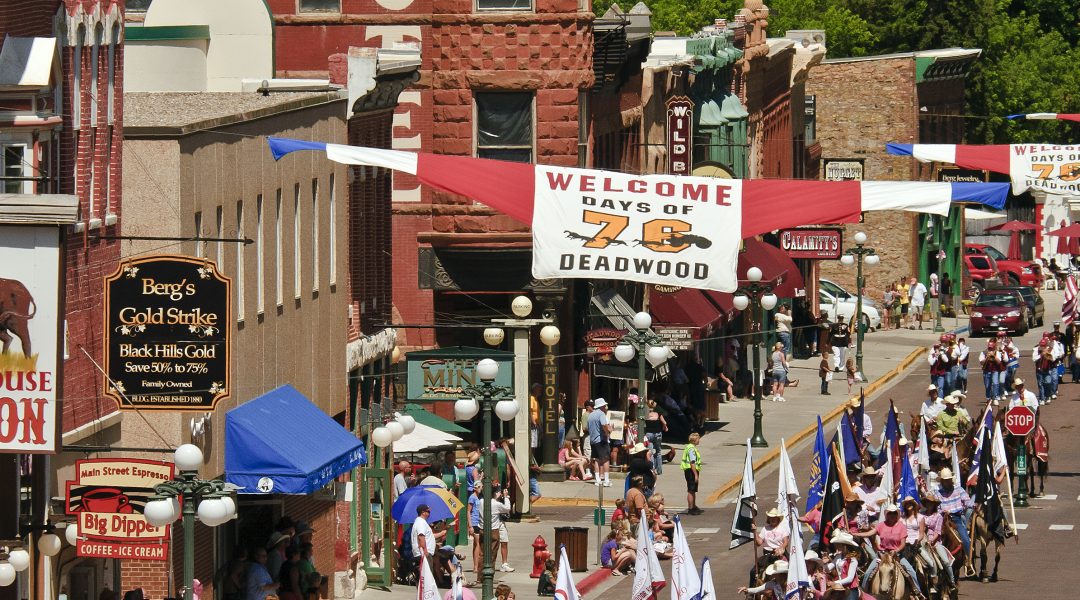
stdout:
[[[967,326],[967,319],[943,319],[945,330],[953,331]],[[870,380],[864,384],[869,406],[867,412],[874,417],[874,422],[881,421],[880,414],[888,409],[886,403],[874,403],[876,397],[888,387],[888,383],[909,365],[924,358],[924,350],[940,336],[933,332],[933,324],[923,324],[922,330],[889,330],[867,333],[863,341],[863,367]],[[852,353],[854,350],[852,349]],[[853,355],[853,354],[852,354]],[[780,440],[785,438],[788,448],[799,439],[808,437],[820,414],[823,421],[829,415],[836,417],[842,410],[843,404],[851,396],[859,394],[858,387],[848,395],[847,381],[834,381],[831,384],[832,395],[820,394],[818,364],[820,357],[792,362],[792,379],[800,380],[798,387],[785,391],[786,403],[771,403],[765,399],[761,404],[764,412],[764,434],[769,442],[768,449],[755,451],[755,469],[768,465],[779,453]],[[878,394],[878,396],[875,396]],[[704,458],[701,491],[698,493],[698,504],[705,508],[701,516],[686,516],[687,523],[694,527],[707,524],[717,528],[717,532],[726,533],[730,522],[730,514],[720,510],[726,502],[724,496],[735,489],[742,476],[744,448],[746,438],[753,434],[754,401],[740,399],[720,405],[720,421],[710,422],[707,433],[702,436],[699,448]],[[880,413],[880,414],[879,414]],[[673,445],[676,450],[681,445]],[[610,488],[603,488],[604,505],[613,506],[615,500],[622,496],[623,479],[612,478]],[[542,535],[548,549],[557,559],[554,530],[561,527],[583,527],[589,529],[589,571],[573,573],[582,595],[596,597],[610,588],[618,581],[609,576],[606,570],[596,564],[598,541],[596,528],[593,526],[593,508],[597,504],[599,489],[592,482],[564,481],[541,482],[543,497],[534,504],[532,516],[539,521],[512,522],[508,524],[510,533],[510,563],[516,569],[512,573],[496,572],[495,582],[510,585],[521,600],[536,598],[537,579],[529,577],[532,565],[532,541]],[[657,491],[663,493],[669,510],[681,512],[686,506],[686,483],[679,471],[678,463],[664,465],[663,474],[657,480]],[[604,528],[606,533],[607,529]],[[726,536],[724,536],[726,538]],[[725,542],[726,545],[726,542]],[[467,556],[464,561],[467,581],[473,581],[472,548],[459,547],[458,551]],[[499,562],[496,562],[498,568]],[[481,589],[471,588],[478,599]],[[443,590],[445,591],[445,590]],[[411,600],[416,597],[416,588],[395,585],[391,589],[368,588],[360,595],[365,600]]]

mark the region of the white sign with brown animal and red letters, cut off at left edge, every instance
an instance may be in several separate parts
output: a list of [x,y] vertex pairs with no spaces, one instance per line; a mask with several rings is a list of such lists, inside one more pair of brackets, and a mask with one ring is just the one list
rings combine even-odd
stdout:
[[59,228],[0,227],[0,453],[53,453]]

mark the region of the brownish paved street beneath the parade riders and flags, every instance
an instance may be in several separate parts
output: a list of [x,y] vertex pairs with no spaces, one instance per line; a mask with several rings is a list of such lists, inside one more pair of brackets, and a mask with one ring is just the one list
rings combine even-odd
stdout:
[[[1047,304],[1049,329],[1052,322],[1049,315],[1061,314],[1059,296],[1047,298]],[[1016,339],[1017,346],[1029,356],[1040,335],[1041,329]],[[986,340],[975,339],[969,345],[972,346],[969,383],[971,394],[964,406],[973,418],[977,418],[984,401],[977,353],[986,346]],[[1024,379],[1034,381],[1034,366],[1029,358],[1022,360],[1020,373]],[[1080,569],[1075,567],[1076,559],[1080,556],[1080,468],[1077,467],[1080,439],[1075,432],[1076,423],[1080,422],[1080,384],[1068,383],[1070,379],[1066,374],[1066,383],[1061,386],[1058,399],[1041,409],[1041,420],[1051,438],[1050,476],[1047,478],[1045,495],[1030,499],[1030,506],[1027,508],[1015,508],[1020,535],[1007,541],[1001,549],[999,581],[993,584],[964,581],[960,586],[961,597],[1050,597],[1080,589]],[[868,399],[867,412],[874,420],[875,439],[885,424],[890,400],[903,412],[901,422],[905,423],[906,428],[912,412],[918,410],[918,405],[926,395],[929,382],[929,368],[926,360],[921,359],[903,378]],[[826,432],[831,428],[835,429],[835,424],[826,425]],[[829,434],[826,433],[827,435]],[[811,436],[798,447],[788,449],[804,496],[809,480],[812,441]],[[768,507],[777,493],[775,464],[758,473],[756,481],[759,506]],[[700,562],[706,556],[710,557],[720,597],[737,596],[738,587],[745,585],[747,570],[754,558],[752,544],[728,550],[733,512],[731,501],[732,499],[727,499],[718,508],[706,510],[704,515],[683,517],[693,558]],[[808,532],[805,538],[809,538]],[[670,564],[663,563],[662,567],[665,574],[670,575]],[[619,581],[605,589],[599,598],[625,598],[630,592],[631,579],[632,577],[625,577]],[[667,590],[664,590],[661,596],[666,594]]]

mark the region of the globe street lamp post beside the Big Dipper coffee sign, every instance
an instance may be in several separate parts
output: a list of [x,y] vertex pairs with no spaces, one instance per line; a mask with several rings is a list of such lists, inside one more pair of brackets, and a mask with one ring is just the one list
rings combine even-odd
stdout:
[[173,453],[179,475],[154,486],[154,495],[146,503],[148,523],[164,527],[184,518],[184,600],[192,600],[195,570],[195,515],[203,524],[217,527],[237,516],[237,501],[225,481],[200,479],[202,450],[192,444],[181,445]]

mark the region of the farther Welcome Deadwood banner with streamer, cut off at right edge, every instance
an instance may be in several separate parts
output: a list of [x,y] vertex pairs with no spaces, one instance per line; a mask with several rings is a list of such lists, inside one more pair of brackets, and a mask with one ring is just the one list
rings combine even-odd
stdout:
[[951,163],[964,168],[1003,173],[1012,180],[1013,193],[1017,194],[1027,190],[1080,194],[1080,146],[1076,145],[888,144],[886,150],[924,163]]

